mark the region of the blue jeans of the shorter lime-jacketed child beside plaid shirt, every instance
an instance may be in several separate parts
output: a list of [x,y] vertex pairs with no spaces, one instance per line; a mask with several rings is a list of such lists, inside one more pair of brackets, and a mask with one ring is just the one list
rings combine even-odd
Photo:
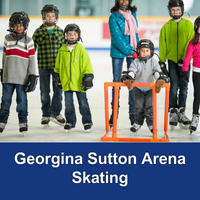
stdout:
[[91,124],[92,125],[92,116],[90,112],[90,107],[88,104],[88,100],[86,97],[86,93],[84,92],[74,92],[74,91],[65,91],[65,118],[66,123],[72,124],[73,127],[76,125],[76,113],[74,108],[74,99],[73,93],[76,93],[78,104],[79,104],[79,112],[82,115],[82,124]]

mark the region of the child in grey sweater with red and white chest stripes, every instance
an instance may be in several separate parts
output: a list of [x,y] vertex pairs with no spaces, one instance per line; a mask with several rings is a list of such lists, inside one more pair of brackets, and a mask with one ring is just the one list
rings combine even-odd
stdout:
[[14,12],[9,19],[11,33],[5,36],[1,81],[3,84],[0,109],[0,133],[7,124],[12,95],[16,89],[19,131],[28,130],[28,101],[26,92],[35,89],[37,76],[33,40],[26,35],[29,18],[25,12]]

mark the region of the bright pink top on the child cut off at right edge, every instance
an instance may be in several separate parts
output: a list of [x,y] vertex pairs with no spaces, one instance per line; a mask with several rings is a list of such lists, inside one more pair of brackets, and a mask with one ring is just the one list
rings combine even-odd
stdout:
[[183,71],[188,71],[188,67],[193,56],[193,71],[200,72],[200,42],[197,45],[192,44],[190,40],[187,53],[183,62]]

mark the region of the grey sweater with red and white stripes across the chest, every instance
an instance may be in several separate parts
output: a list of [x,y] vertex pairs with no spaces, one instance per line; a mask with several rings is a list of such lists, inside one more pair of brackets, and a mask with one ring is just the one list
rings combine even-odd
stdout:
[[15,39],[15,34],[5,36],[3,57],[3,83],[24,85],[30,74],[36,74],[35,49],[31,37]]

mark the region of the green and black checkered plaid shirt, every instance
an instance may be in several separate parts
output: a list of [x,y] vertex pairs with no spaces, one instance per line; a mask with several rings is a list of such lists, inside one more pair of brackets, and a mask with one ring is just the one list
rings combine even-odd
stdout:
[[39,69],[52,69],[55,67],[58,50],[64,44],[63,30],[55,26],[51,35],[48,34],[44,24],[33,34],[35,49],[38,47],[37,60]]

